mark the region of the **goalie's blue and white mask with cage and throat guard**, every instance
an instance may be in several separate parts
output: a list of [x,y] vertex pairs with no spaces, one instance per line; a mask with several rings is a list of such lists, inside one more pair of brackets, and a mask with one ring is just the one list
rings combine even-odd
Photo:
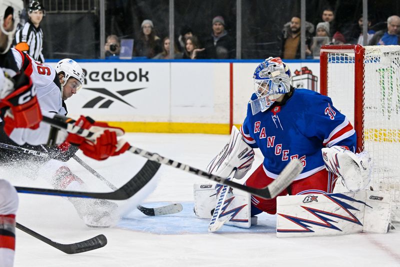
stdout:
[[290,91],[291,73],[280,58],[267,58],[254,71],[256,100],[250,101],[252,114],[267,110],[282,94]]

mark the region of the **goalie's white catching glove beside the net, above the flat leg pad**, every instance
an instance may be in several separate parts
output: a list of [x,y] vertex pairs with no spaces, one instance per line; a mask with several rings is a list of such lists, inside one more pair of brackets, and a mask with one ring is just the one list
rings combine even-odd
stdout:
[[362,190],[369,184],[372,160],[367,152],[354,154],[340,146],[325,147],[321,152],[326,169],[340,176],[349,191]]

